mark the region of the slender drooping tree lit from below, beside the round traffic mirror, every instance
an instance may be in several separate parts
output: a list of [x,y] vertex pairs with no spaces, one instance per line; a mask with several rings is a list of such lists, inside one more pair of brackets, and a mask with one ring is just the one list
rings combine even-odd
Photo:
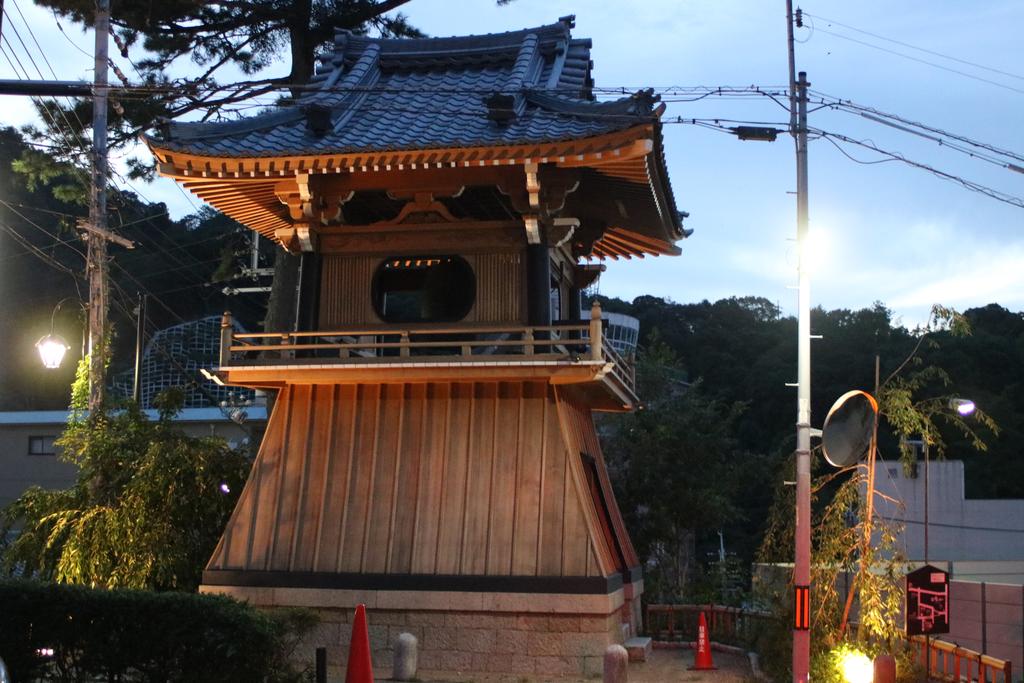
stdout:
[[[971,439],[977,450],[985,450],[985,432],[998,433],[994,421],[977,411],[969,421],[948,410],[952,381],[946,370],[927,362],[923,349],[936,349],[935,337],[951,335],[963,338],[971,334],[966,317],[951,308],[936,305],[928,323],[916,331],[916,342],[909,353],[888,376],[879,377],[873,394],[878,399],[879,418],[883,426],[902,437],[921,435],[935,449],[937,457],[945,451],[939,425],[944,423]],[[872,446],[877,446],[876,440]],[[900,449],[904,466],[911,466],[915,455]],[[793,467],[793,459],[790,467]],[[814,644],[820,651],[830,650],[843,642],[855,642],[873,650],[902,649],[903,578],[906,558],[897,547],[902,530],[873,511],[872,502],[879,496],[870,484],[870,463],[858,463],[838,472],[818,476],[812,486],[814,508],[818,510],[812,523],[811,627],[817,634]],[[761,550],[762,561],[786,561],[793,548],[793,492],[779,489],[772,508],[770,523]],[[846,591],[840,578],[850,577]],[[856,631],[847,629],[854,595],[859,602]],[[782,609],[787,604],[777,605]],[[785,620],[788,623],[790,620]],[[817,657],[814,666],[828,666],[827,657]],[[818,672],[821,677],[821,672]]]

